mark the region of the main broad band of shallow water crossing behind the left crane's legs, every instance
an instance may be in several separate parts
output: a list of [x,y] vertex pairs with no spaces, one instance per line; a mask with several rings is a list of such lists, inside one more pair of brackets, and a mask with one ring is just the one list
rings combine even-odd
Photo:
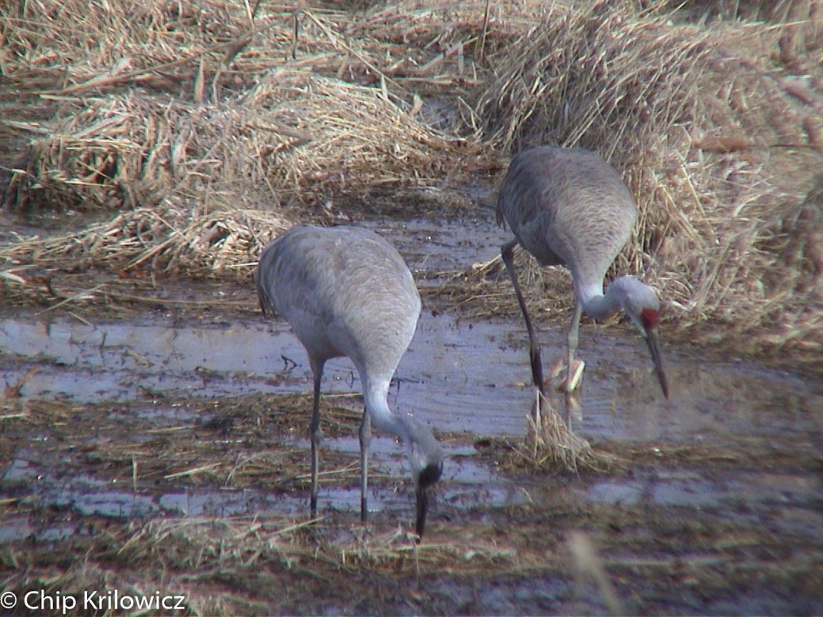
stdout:
[[[561,336],[542,332],[542,340],[546,357],[560,355]],[[390,404],[439,431],[522,435],[533,396],[525,381],[530,374],[525,343],[518,322],[470,322],[457,313],[424,311],[398,367]],[[0,320],[0,348],[7,383],[38,369],[23,388],[26,397],[75,402],[133,400],[146,392],[226,397],[306,392],[311,383],[305,351],[287,325],[262,318],[197,325],[162,318],[94,325],[67,317],[7,318]],[[579,355],[588,365],[582,412],[574,425],[596,441],[716,445],[762,438],[811,444],[823,434],[820,384],[795,375],[669,350],[672,398],[665,401],[643,342],[627,328],[584,330]],[[359,389],[349,360],[328,363],[324,392]],[[389,456],[396,452],[391,439],[384,440],[388,448],[381,448],[381,441],[376,440],[377,456],[381,449]],[[330,446],[357,448],[356,440]],[[487,473],[465,462],[447,477],[489,482]],[[706,493],[701,499],[714,499],[712,487],[695,483],[691,489]],[[593,497],[634,493],[632,486],[596,488]],[[672,494],[665,499],[674,499]],[[683,499],[694,498],[684,494]]]

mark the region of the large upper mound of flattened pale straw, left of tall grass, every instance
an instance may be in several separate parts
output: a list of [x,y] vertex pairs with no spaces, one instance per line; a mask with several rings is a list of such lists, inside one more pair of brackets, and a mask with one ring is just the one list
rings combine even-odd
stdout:
[[119,210],[210,191],[242,196],[251,189],[260,199],[260,188],[268,198],[258,206],[311,204],[314,195],[331,198],[332,186],[430,178],[432,160],[461,145],[380,90],[292,69],[269,73],[226,104],[130,91],[63,109],[65,117],[32,141],[7,206]]

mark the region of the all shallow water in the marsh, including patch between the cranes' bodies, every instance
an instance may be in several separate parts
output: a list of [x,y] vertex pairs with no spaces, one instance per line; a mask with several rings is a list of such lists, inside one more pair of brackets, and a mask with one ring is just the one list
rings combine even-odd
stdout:
[[[494,257],[506,235],[490,225],[374,225],[398,244],[413,270],[437,271]],[[469,240],[467,231],[469,230]],[[427,247],[425,251],[421,247]],[[429,284],[421,281],[421,285]],[[249,290],[249,306],[254,299]],[[513,299],[514,302],[514,299]],[[544,364],[562,354],[562,333],[541,332]],[[772,369],[751,361],[708,355],[704,350],[665,346],[672,396],[663,399],[644,343],[629,327],[584,326],[579,357],[587,362],[581,411],[574,429],[611,452],[655,452],[705,448],[712,452],[756,452],[745,469],[723,471],[662,460],[629,475],[595,476],[563,486],[546,480],[517,480],[498,473],[477,457],[475,438],[518,439],[526,430],[532,389],[526,336],[519,320],[474,320],[453,310],[425,307],[416,336],[398,367],[390,405],[413,412],[443,439],[448,460],[439,485],[433,520],[448,525],[460,513],[540,503],[566,491],[569,499],[591,506],[695,508],[716,513],[743,527],[767,525],[774,534],[823,537],[823,479],[818,468],[779,461],[798,454],[819,461],[823,445],[823,386],[802,373]],[[81,322],[71,316],[17,314],[0,318],[0,374],[16,383],[38,369],[22,388],[23,397],[66,401],[134,401],[167,395],[200,400],[252,392],[272,395],[309,392],[311,373],[305,351],[282,322],[264,322],[257,313],[221,321],[174,320],[156,313],[129,321]],[[359,392],[357,375],[346,359],[327,364],[324,392]],[[195,423],[181,408],[146,406],[158,427]],[[308,424],[308,410],[306,417]],[[117,436],[114,436],[116,438]],[[305,448],[295,437],[295,448]],[[327,438],[325,448],[351,454],[356,435]],[[26,499],[81,515],[132,517],[226,516],[266,512],[304,513],[300,491],[226,490],[188,486],[135,492],[92,476],[63,476],[53,452],[37,442],[16,449],[2,467],[0,499]],[[393,438],[378,436],[372,459],[379,475],[372,483],[370,508],[403,520],[412,511],[407,463]],[[774,455],[774,456],[773,456]],[[720,455],[722,457],[722,454]],[[753,455],[754,456],[754,455]],[[404,484],[405,483],[405,484]],[[21,488],[23,487],[23,488]],[[398,489],[399,487],[399,489]],[[323,487],[320,506],[356,513],[360,494],[351,485]],[[30,536],[58,540],[77,533],[69,526],[32,527],[25,517],[0,523],[0,541]],[[504,606],[501,604],[500,606]],[[787,605],[783,605],[785,608]],[[823,605],[821,605],[823,608]],[[778,611],[779,612],[779,611]],[[814,612],[814,611],[812,611]]]

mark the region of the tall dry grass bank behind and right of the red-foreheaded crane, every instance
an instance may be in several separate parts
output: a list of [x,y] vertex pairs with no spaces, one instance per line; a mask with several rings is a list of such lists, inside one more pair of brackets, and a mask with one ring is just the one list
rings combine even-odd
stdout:
[[[551,5],[490,58],[495,77],[477,113],[500,148],[585,146],[621,169],[641,216],[614,271],[644,272],[688,336],[814,362],[823,350],[820,10],[807,3],[786,26],[706,28],[612,2]],[[775,69],[769,54],[792,47]],[[813,77],[798,81],[799,71]],[[496,284],[500,269],[487,265],[469,285],[490,272]],[[530,295],[543,295],[550,283],[530,276]],[[547,302],[540,308],[556,298]]]

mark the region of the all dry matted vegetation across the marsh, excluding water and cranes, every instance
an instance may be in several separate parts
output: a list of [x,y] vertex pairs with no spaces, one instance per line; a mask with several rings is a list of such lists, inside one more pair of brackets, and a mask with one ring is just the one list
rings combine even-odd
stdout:
[[[455,203],[491,214],[454,189],[491,190],[524,146],[579,145],[606,155],[638,198],[614,271],[661,290],[668,340],[788,353],[819,372],[821,13],[820,0],[0,2],[0,299],[245,314],[249,303],[216,300],[194,279],[248,282],[262,245],[296,220],[449,216]],[[523,252],[518,262],[532,308],[565,322],[568,275]],[[445,304],[519,319],[499,260],[436,280],[426,293]],[[182,299],[158,291],[180,281]],[[441,501],[417,545],[388,515],[368,526],[328,509],[314,522],[279,510],[105,516],[44,498],[26,476],[40,466],[45,480],[89,477],[151,503],[193,488],[294,491],[303,503],[309,397],[146,391],[75,406],[21,398],[35,371],[7,383],[0,405],[0,454],[13,462],[4,590],[168,590],[193,615],[728,613],[751,597],[762,612],[819,612],[819,503],[793,503],[791,490],[756,508],[574,496],[683,469],[721,484],[765,469],[781,487],[813,486],[819,448],[791,431],[619,452],[555,425],[531,443],[439,434],[522,501],[486,508],[480,489],[468,508]],[[324,429],[356,434],[360,401],[329,398]],[[783,404],[797,401],[774,397]],[[158,420],[163,406],[174,413]],[[324,452],[323,482],[355,486],[356,458]],[[558,460],[579,471],[571,493]],[[7,474],[18,462],[25,486]],[[407,494],[406,476],[375,467]]]

